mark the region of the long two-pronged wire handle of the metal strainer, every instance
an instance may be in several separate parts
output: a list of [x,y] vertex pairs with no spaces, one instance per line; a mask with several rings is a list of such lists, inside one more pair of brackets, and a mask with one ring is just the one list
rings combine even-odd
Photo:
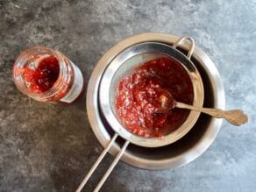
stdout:
[[[98,167],[98,165],[100,164],[100,162],[103,160],[105,154],[110,150],[110,146],[113,145],[114,141],[117,139],[117,133],[113,136],[113,138],[110,140],[110,143],[108,144],[108,146],[103,150],[103,152],[101,153],[101,155],[98,157],[98,159],[96,160],[96,162],[94,163],[94,165],[90,168],[89,173],[86,174],[86,176],[84,177],[84,179],[82,180],[82,182],[80,183],[80,185],[78,186],[78,188],[75,190],[75,192],[80,192],[82,190],[82,188],[84,187],[84,185],[86,184],[86,182],[89,180],[90,176],[95,172],[96,167]],[[113,160],[112,164],[110,165],[109,169],[106,171],[106,173],[103,175],[103,178],[101,179],[101,181],[98,183],[98,185],[95,188],[95,192],[99,191],[99,189],[103,186],[104,181],[106,181],[106,179],[108,178],[108,176],[110,175],[111,171],[113,170],[113,168],[117,165],[117,162],[120,160],[120,158],[122,157],[126,147],[129,145],[129,141],[126,141],[124,143],[124,146],[122,147],[122,149],[120,150],[119,153],[117,153],[117,156],[115,158],[115,160]]]

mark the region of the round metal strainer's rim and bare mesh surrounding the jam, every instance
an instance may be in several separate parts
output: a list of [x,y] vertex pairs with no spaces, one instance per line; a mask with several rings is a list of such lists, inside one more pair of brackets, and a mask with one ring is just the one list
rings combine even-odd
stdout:
[[[182,37],[181,39],[187,39],[187,37]],[[181,40],[178,41],[181,42]],[[194,40],[191,41],[191,47],[194,47]],[[190,53],[192,53],[192,51],[191,49]],[[115,109],[115,94],[118,82],[125,75],[134,73],[134,68],[146,63],[146,61],[162,57],[177,60],[181,67],[187,71],[194,90],[193,105],[203,106],[203,82],[199,72],[190,61],[189,57],[181,53],[181,51],[177,50],[174,46],[168,46],[167,44],[159,42],[145,42],[127,47],[124,51],[118,53],[105,68],[99,85],[99,103],[103,116],[107,119],[112,129],[123,139],[129,140],[134,145],[159,147],[174,143],[189,132],[193,125],[196,124],[196,120],[200,115],[199,112],[191,110],[187,119],[180,127],[174,130],[174,132],[169,132],[167,135],[164,135],[161,139],[140,137],[129,132],[119,123]]]

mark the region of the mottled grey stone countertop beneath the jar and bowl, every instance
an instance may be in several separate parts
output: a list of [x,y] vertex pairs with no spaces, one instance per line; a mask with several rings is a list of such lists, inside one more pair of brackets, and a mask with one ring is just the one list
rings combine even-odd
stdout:
[[[0,191],[75,191],[102,152],[85,95],[71,105],[39,103],[11,81],[15,58],[43,45],[65,53],[85,76],[110,46],[141,32],[187,34],[224,82],[226,109],[249,123],[222,125],[210,148],[185,167],[149,171],[119,162],[102,191],[256,190],[256,3],[248,1],[0,0]],[[84,191],[110,165],[103,161]]]

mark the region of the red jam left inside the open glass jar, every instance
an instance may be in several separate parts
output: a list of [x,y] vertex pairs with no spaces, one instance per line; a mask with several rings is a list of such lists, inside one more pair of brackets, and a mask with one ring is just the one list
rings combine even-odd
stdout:
[[39,61],[35,69],[25,67],[24,77],[29,89],[34,93],[42,93],[53,87],[60,73],[59,61],[54,56]]

